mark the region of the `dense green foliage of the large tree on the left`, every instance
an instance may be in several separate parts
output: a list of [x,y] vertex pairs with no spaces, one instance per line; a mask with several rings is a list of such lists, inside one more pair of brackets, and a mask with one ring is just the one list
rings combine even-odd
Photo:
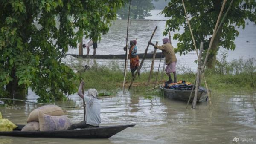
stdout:
[[78,77],[61,59],[84,35],[100,40],[127,1],[2,0],[0,96],[14,85],[30,86],[41,102],[67,99]]

